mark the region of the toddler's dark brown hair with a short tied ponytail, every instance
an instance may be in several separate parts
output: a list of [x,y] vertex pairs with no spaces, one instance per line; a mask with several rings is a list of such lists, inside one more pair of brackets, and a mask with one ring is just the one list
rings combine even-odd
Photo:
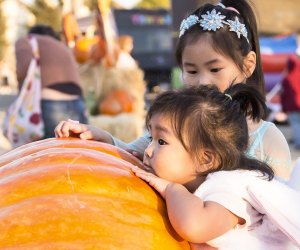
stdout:
[[265,111],[263,96],[248,84],[231,85],[224,93],[214,85],[201,85],[159,95],[148,111],[146,125],[149,127],[156,114],[169,118],[174,133],[195,162],[201,162],[203,149],[213,152],[215,166],[203,175],[246,169],[260,171],[271,180],[272,168],[245,154],[249,140],[245,115],[256,120]]

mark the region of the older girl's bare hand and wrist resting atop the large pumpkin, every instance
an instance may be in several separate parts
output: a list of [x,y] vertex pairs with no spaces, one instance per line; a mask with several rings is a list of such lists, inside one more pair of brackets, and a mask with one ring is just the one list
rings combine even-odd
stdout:
[[95,140],[113,144],[112,136],[99,128],[82,124],[77,121],[61,121],[54,130],[55,137],[76,136],[82,140]]

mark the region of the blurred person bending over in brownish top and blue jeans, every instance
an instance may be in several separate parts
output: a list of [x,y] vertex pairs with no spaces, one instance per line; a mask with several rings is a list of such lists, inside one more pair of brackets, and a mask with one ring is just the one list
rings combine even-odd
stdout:
[[[87,122],[78,65],[72,51],[56,32],[46,25],[35,25],[28,35],[37,38],[41,68],[41,108],[45,138],[54,137],[54,128],[65,119]],[[33,57],[28,38],[16,41],[16,73],[19,89]]]

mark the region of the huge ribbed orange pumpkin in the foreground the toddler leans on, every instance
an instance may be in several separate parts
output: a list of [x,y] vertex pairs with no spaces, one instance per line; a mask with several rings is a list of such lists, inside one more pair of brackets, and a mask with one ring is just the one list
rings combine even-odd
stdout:
[[47,139],[0,157],[1,249],[189,249],[140,162],[100,142]]

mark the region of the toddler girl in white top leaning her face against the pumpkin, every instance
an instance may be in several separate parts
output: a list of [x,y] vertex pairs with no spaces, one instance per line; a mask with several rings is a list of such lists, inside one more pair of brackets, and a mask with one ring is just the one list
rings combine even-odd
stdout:
[[[246,84],[233,85],[225,94],[213,85],[168,91],[150,107],[146,125],[151,142],[143,160],[147,171],[132,170],[166,200],[171,224],[193,249],[205,242],[217,249],[296,249],[286,231],[277,228],[278,218],[273,222],[264,216],[255,202],[268,189],[286,188],[272,180],[271,167],[244,153],[245,113],[255,119],[264,107],[263,97]],[[293,190],[282,192],[300,199]],[[283,199],[278,192],[277,198]],[[296,216],[299,199],[288,200]],[[293,223],[297,237],[300,220]],[[286,230],[288,224],[279,225]]]

